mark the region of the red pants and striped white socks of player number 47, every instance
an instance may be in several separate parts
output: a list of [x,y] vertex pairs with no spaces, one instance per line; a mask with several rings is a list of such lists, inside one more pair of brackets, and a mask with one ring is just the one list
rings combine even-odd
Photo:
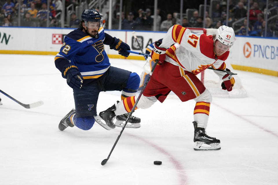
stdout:
[[[157,100],[162,103],[171,91],[181,101],[188,101],[190,99],[196,101],[193,113],[194,121],[197,122],[197,127],[206,129],[210,103],[212,102],[211,93],[193,73],[184,71],[181,67],[169,62],[156,66],[135,110],[138,108],[149,108]],[[136,100],[137,97],[123,99],[117,104],[115,114],[120,115],[131,112]]]

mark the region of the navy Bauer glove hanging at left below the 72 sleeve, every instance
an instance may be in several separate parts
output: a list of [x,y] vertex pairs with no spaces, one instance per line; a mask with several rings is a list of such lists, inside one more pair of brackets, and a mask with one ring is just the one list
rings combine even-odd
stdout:
[[73,89],[80,89],[82,87],[83,77],[74,65],[66,65],[62,71],[63,78],[67,79],[67,84]]

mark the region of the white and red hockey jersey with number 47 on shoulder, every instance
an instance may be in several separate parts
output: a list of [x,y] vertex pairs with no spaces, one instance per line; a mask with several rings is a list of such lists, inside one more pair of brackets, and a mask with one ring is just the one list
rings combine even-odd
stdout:
[[[204,33],[193,34],[190,29],[180,25],[173,25],[168,30],[160,47],[170,47],[166,51],[165,61],[180,66],[186,71],[191,71],[195,75],[210,66],[224,70],[226,68],[224,61],[229,55],[229,51],[221,56],[214,53],[213,36],[207,36]],[[220,71],[215,71],[215,73],[219,76],[226,74]]]

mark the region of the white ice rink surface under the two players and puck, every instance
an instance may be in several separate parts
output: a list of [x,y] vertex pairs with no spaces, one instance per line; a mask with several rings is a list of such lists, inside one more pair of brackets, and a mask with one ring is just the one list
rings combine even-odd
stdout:
[[[144,65],[110,62],[139,75]],[[25,109],[0,93],[0,184],[278,184],[277,77],[233,71],[248,97],[213,98],[207,133],[221,140],[221,150],[193,150],[195,101],[171,95],[133,113],[141,127],[125,129],[101,166],[121,128],[58,129],[74,100],[54,56],[1,54],[0,72],[0,89],[10,96],[25,104],[44,101]],[[97,111],[119,99],[118,91],[100,93]]]

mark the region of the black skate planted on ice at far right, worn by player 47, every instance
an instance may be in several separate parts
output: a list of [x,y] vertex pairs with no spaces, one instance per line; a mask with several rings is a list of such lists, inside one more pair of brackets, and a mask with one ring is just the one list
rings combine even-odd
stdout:
[[193,121],[194,125],[194,150],[220,150],[220,140],[206,135],[206,130],[202,127],[197,127],[197,122]]

